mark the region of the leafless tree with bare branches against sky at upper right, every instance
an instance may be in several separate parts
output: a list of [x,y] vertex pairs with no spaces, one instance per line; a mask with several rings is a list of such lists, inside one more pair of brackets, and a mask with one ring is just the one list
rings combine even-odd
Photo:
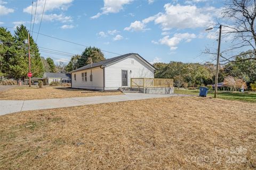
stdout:
[[[256,60],[256,0],[230,0],[222,11],[222,37],[232,36],[231,46],[222,50],[220,63],[240,62]],[[246,52],[244,52],[246,50]],[[206,54],[217,55],[210,48],[206,48]],[[236,54],[237,53],[237,54]],[[252,54],[248,58],[235,58]]]

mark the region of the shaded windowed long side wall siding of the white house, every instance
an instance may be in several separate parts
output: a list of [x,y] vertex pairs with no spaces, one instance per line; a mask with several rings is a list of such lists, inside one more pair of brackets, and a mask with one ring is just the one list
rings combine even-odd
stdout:
[[[82,73],[87,72],[87,81],[82,82]],[[76,74],[76,81],[74,80]],[[72,88],[103,90],[103,69],[92,69],[92,81],[90,81],[91,69],[73,72],[71,74]]]

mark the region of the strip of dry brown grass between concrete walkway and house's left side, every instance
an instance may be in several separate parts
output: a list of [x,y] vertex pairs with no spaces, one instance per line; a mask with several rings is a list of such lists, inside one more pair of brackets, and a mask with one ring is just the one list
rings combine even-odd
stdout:
[[0,100],[34,100],[68,97],[89,97],[121,95],[122,92],[100,92],[83,89],[71,89],[67,87],[17,87],[6,91],[0,91]]

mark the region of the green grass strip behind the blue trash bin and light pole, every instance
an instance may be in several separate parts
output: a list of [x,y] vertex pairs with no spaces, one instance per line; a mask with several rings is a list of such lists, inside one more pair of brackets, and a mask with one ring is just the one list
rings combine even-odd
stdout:
[[[184,95],[199,95],[199,90],[185,90],[185,89],[174,89],[174,94]],[[213,97],[214,91],[208,91],[207,96]],[[218,91],[218,98],[228,100],[241,100],[247,102],[256,103],[256,92],[232,92],[232,91]]]

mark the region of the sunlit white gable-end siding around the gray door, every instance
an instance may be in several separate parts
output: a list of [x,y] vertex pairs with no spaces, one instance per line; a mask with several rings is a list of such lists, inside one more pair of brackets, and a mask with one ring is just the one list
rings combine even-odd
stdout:
[[117,90],[122,87],[122,70],[127,70],[127,87],[130,87],[131,78],[154,78],[153,68],[131,55],[105,67],[105,90]]

